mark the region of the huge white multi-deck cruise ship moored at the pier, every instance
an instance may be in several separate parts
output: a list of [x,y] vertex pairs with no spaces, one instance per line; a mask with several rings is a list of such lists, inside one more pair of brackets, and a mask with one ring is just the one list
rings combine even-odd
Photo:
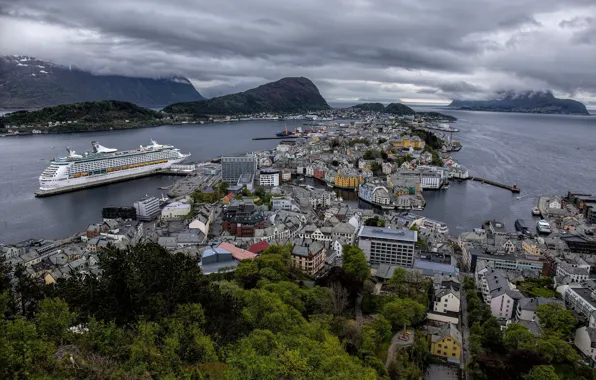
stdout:
[[77,154],[67,148],[68,156],[51,162],[39,176],[38,196],[57,194],[100,184],[140,177],[184,161],[188,154],[171,145],[151,144],[138,149],[119,151],[98,142],[93,149]]

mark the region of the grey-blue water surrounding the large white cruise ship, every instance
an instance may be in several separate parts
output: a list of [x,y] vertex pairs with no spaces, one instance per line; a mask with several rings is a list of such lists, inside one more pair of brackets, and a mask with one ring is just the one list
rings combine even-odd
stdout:
[[[288,128],[302,125],[288,121]],[[118,149],[147,145],[150,139],[191,152],[190,161],[222,154],[271,149],[279,141],[253,141],[273,136],[284,124],[250,121],[205,125],[178,125],[124,131],[0,138],[0,243],[32,237],[61,238],[83,231],[101,219],[107,205],[132,205],[146,194],[159,196],[158,187],[171,184],[167,176],[146,177],[94,189],[35,198],[39,174],[53,157],[64,157],[65,147],[77,152],[91,148],[91,141]]]

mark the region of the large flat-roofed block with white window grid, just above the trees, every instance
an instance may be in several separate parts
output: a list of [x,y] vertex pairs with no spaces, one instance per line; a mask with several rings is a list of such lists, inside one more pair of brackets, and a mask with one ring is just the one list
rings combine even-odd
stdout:
[[370,264],[414,266],[414,246],[418,233],[412,230],[363,226],[358,246]]

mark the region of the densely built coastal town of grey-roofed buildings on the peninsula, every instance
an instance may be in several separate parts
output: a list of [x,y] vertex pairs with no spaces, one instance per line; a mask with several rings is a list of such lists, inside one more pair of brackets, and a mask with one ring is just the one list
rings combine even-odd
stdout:
[[[452,236],[442,221],[416,213],[425,193],[473,178],[451,156],[465,146],[447,121],[355,110],[296,117],[309,124],[289,131],[292,138],[273,150],[175,165],[180,177],[163,189],[168,197],[107,206],[81,233],[0,246],[0,254],[11,267],[53,284],[75,274],[101,276],[101,252],[147,242],[184,253],[214,276],[283,246],[304,282],[314,284],[350,265],[357,250],[372,285],[356,299],[359,323],[373,318],[370,304],[382,297],[408,294],[420,306],[420,313],[390,321],[399,328],[387,366],[423,333],[442,363],[435,364],[438,378],[455,376],[452,369],[481,371],[486,352],[479,342],[495,329],[506,349],[522,345],[515,334],[535,344],[548,337],[551,345],[575,347],[556,346],[565,354],[552,355],[552,363],[581,354],[594,366],[596,196],[540,197],[535,214],[545,230],[532,229],[537,219],[528,210],[529,223],[505,226],[486,215],[482,226]],[[356,121],[317,121],[325,118]],[[381,314],[388,317],[386,309]],[[569,326],[553,322],[559,316]]]

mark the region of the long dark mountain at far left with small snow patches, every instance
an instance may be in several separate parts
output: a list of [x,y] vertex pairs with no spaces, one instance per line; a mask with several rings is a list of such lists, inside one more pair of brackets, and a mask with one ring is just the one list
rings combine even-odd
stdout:
[[184,77],[95,75],[26,56],[0,57],[0,108],[39,108],[98,100],[144,107],[204,99]]

